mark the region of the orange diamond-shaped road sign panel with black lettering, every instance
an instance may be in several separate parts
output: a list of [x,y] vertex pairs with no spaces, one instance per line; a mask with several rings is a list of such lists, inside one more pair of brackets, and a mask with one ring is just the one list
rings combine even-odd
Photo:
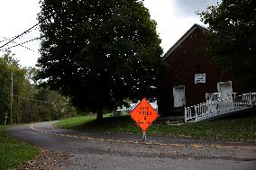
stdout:
[[130,116],[143,131],[146,131],[159,115],[154,111],[146,98],[143,98],[142,101],[130,113]]

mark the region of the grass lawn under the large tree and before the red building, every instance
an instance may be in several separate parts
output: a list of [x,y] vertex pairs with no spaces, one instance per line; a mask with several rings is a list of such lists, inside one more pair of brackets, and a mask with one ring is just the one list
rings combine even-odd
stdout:
[[[75,117],[61,120],[55,126],[74,130],[142,133],[128,115],[115,117],[107,115],[101,123],[96,122],[96,117],[93,116]],[[197,139],[256,141],[256,116],[236,116],[229,119],[182,125],[153,123],[147,134]]]

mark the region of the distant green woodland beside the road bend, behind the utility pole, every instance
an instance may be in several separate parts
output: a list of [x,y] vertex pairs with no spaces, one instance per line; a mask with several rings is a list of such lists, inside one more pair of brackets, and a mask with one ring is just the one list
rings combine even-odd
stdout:
[[51,121],[77,115],[76,109],[69,104],[68,98],[49,88],[37,87],[33,76],[36,68],[22,68],[14,59],[11,51],[0,58],[0,124],[10,123],[11,75],[14,75],[14,123],[32,121]]

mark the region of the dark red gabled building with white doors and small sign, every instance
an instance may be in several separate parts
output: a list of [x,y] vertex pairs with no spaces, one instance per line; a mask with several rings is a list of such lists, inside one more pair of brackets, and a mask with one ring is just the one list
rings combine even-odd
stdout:
[[161,115],[174,115],[176,108],[204,103],[206,94],[221,93],[224,98],[233,92],[242,93],[241,85],[216,66],[213,56],[205,51],[205,31],[194,24],[164,55],[167,67],[160,76],[158,98]]

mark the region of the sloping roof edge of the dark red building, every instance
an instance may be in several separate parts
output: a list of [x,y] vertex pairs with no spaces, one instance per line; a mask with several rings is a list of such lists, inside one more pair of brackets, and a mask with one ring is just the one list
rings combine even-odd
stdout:
[[202,30],[207,30],[205,27],[195,23],[166,53],[165,55],[162,57],[163,59],[166,59],[169,57],[169,54],[172,53],[172,51],[174,51],[176,48],[178,48],[178,46],[187,39],[187,37],[193,32],[195,31],[197,28],[202,29]]

